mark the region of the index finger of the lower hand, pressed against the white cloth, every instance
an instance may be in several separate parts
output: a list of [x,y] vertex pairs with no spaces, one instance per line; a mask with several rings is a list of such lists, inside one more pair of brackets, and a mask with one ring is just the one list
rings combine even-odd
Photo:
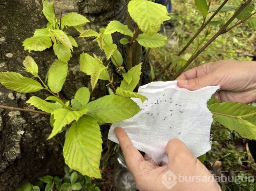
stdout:
[[128,137],[125,130],[121,127],[116,127],[114,129],[117,139],[119,141],[120,147],[123,151],[125,158],[125,163],[131,171],[132,175],[136,174],[139,170],[140,162],[144,161],[144,157],[140,152],[133,146],[130,138]]

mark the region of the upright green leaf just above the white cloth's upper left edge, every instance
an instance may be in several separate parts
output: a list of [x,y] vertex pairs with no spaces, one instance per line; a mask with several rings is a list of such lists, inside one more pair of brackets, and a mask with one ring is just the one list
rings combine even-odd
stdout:
[[127,74],[125,75],[130,75],[132,76],[132,81],[130,83],[127,83],[126,80],[122,80],[120,84],[120,88],[123,90],[128,90],[128,91],[133,91],[134,88],[137,86],[137,84],[140,81],[140,75],[141,75],[141,65],[142,63],[132,67]]

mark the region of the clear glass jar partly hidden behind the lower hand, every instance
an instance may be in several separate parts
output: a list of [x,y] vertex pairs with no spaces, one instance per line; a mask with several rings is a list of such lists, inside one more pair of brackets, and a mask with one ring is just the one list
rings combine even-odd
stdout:
[[114,183],[115,186],[124,191],[136,191],[134,178],[128,167],[120,146],[117,146],[114,162]]

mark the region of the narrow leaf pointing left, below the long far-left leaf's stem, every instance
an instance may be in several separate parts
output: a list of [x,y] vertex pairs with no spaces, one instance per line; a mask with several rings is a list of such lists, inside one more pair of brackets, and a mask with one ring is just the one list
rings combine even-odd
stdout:
[[58,109],[55,103],[47,102],[37,96],[32,96],[26,103],[29,103],[47,113],[51,113],[53,110]]

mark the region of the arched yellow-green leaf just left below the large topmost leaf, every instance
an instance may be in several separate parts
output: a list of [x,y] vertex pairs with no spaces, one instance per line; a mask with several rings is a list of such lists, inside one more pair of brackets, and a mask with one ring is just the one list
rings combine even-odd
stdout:
[[104,34],[112,34],[114,32],[119,32],[121,34],[133,37],[133,32],[130,29],[128,29],[128,26],[122,24],[120,21],[117,20],[110,21],[110,23],[105,29]]

